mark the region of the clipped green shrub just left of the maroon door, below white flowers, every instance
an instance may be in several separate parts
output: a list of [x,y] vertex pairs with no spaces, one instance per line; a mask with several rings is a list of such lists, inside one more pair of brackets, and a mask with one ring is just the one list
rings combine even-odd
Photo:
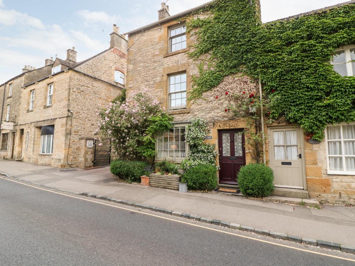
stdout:
[[212,190],[217,187],[217,169],[214,165],[200,164],[188,170],[181,179],[192,190]]

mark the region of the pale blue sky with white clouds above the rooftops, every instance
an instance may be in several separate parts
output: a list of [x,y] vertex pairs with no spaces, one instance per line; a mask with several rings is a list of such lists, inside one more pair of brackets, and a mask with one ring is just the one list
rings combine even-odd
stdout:
[[[263,22],[339,4],[346,0],[260,0]],[[112,24],[120,33],[158,20],[162,0],[0,0],[0,84],[22,73],[25,65],[75,47],[77,61],[109,48]],[[168,0],[170,15],[208,0]]]

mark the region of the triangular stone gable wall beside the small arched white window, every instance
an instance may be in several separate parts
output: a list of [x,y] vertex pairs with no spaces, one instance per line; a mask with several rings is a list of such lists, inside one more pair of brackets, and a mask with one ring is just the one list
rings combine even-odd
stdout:
[[76,69],[91,76],[103,79],[104,81],[122,86],[120,83],[115,82],[115,67],[122,69],[122,72],[126,74],[126,66],[126,51],[120,51],[114,47]]

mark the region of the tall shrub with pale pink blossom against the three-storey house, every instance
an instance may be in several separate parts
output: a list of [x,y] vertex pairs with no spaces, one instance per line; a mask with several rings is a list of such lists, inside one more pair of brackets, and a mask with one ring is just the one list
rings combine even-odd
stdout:
[[101,121],[96,133],[109,136],[114,152],[126,160],[153,158],[154,134],[171,128],[173,121],[147,89],[132,92],[126,100],[110,102],[97,114]]

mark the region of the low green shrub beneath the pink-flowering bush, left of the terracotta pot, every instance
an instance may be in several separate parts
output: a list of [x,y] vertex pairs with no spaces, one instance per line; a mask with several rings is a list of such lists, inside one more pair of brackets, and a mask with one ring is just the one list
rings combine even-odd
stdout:
[[148,164],[142,161],[122,161],[114,160],[111,162],[110,171],[125,181],[141,182],[141,176],[147,172]]

